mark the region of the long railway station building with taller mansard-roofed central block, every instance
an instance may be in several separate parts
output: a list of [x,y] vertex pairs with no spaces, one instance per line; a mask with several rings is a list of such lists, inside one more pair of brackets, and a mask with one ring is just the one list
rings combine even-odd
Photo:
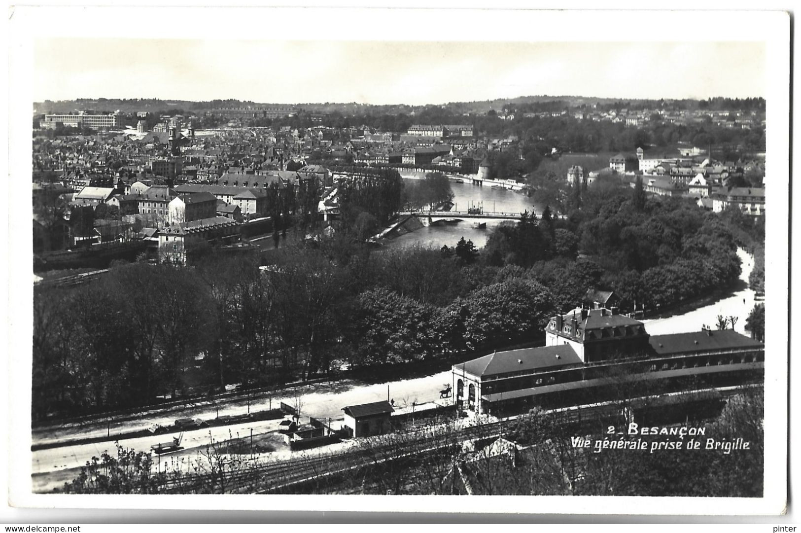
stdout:
[[[489,353],[451,369],[456,402],[480,414],[525,410],[581,397],[620,380],[737,382],[763,372],[765,347],[732,329],[650,336],[645,325],[614,309],[557,315],[538,348]],[[619,383],[618,383],[619,385]],[[548,405],[553,405],[553,402]]]

